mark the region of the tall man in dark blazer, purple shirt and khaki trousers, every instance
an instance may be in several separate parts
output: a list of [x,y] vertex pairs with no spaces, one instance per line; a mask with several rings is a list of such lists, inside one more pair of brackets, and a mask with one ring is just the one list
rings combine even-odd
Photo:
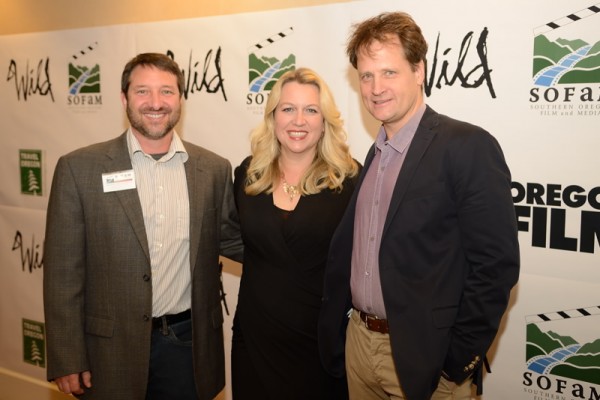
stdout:
[[409,15],[355,25],[347,53],[382,125],[332,239],[322,361],[351,399],[470,399],[518,280],[509,169],[489,133],[425,105]]

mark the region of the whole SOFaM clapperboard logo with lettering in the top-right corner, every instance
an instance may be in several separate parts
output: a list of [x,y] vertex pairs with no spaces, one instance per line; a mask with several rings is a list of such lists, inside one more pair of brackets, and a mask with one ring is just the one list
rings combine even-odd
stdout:
[[600,3],[534,29],[529,102],[543,116],[600,115]]

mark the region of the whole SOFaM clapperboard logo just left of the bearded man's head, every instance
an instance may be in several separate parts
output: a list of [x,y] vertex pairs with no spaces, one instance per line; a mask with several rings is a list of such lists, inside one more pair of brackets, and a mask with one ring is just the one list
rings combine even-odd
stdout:
[[67,97],[67,104],[70,106],[89,108],[102,105],[100,65],[95,64],[90,67],[82,65],[80,60],[97,46],[98,42],[72,56],[73,61],[69,63],[69,95]]

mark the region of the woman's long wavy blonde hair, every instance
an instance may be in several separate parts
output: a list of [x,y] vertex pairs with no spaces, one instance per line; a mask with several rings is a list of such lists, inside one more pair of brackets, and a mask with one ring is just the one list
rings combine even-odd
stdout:
[[302,195],[319,193],[325,188],[342,190],[346,177],[358,173],[358,165],[350,155],[346,131],[327,84],[308,68],[298,68],[283,74],[273,86],[265,105],[263,121],[250,135],[252,161],[246,176],[246,194],[272,193],[274,182],[281,176],[279,156],[281,148],[275,135],[275,109],[286,83],[315,85],[319,89],[320,108],[324,119],[324,133],[317,143],[315,159],[300,180]]

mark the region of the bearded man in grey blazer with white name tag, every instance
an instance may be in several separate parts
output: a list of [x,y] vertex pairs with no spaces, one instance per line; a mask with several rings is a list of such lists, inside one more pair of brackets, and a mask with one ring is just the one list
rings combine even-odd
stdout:
[[44,308],[48,379],[86,399],[212,399],[224,387],[219,254],[240,261],[231,165],[182,141],[183,75],[123,71],[131,128],[56,166]]

